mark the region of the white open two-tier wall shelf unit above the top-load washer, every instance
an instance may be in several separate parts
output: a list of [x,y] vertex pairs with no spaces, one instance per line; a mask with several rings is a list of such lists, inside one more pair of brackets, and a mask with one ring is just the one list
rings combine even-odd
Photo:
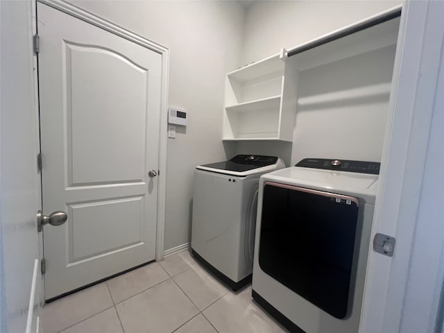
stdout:
[[293,65],[287,65],[279,54],[228,73],[223,140],[291,142],[296,114],[294,74]]

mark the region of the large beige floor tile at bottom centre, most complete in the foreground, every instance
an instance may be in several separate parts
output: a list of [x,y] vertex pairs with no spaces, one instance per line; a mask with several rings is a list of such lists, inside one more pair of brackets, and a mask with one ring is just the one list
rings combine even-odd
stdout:
[[198,314],[198,309],[171,279],[116,307],[126,333],[170,333]]

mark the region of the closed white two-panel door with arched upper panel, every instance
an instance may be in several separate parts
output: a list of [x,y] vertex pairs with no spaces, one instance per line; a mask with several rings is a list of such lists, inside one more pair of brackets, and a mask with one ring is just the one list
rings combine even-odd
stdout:
[[[162,56],[37,3],[45,297],[155,259]],[[151,174],[151,176],[150,176]]]

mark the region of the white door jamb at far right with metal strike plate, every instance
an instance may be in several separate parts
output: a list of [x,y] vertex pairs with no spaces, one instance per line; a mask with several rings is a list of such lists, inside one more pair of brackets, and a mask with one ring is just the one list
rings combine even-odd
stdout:
[[442,43],[434,2],[406,1],[402,8],[372,228],[372,235],[397,241],[392,258],[370,250],[359,332],[400,332]]

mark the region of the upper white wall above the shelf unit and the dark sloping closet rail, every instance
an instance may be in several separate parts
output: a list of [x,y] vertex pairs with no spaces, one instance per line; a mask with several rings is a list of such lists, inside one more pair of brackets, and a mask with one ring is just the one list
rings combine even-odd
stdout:
[[245,19],[243,64],[291,49],[396,6],[395,0],[257,1]]

